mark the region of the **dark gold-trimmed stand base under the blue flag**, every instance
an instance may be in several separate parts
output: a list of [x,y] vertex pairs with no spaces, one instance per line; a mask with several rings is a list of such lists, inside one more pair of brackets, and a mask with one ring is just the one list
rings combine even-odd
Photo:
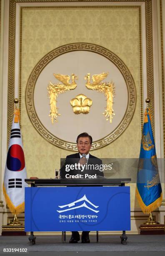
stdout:
[[143,225],[140,225],[140,235],[164,235],[165,225],[159,224],[153,218],[152,212],[150,216]]

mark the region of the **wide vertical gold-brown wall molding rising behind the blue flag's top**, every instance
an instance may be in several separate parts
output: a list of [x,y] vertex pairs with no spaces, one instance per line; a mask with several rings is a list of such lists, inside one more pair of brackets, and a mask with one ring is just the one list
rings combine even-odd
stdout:
[[154,76],[153,76],[153,24],[152,24],[152,0],[145,1],[146,17],[146,48],[147,48],[147,95],[150,99],[151,125],[153,135],[154,126]]

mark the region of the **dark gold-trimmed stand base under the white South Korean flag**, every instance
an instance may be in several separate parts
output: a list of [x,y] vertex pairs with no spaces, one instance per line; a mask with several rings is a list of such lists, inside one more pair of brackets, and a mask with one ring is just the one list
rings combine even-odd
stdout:
[[10,224],[2,226],[2,236],[26,236],[25,226],[18,221],[16,214]]

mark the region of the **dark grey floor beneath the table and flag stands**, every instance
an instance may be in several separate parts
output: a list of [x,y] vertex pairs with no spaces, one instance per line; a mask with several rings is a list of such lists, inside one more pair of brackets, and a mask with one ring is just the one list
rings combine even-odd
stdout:
[[[36,244],[30,246],[28,236],[0,236],[0,253],[4,248],[27,248],[28,254],[40,256],[165,256],[165,235],[128,235],[127,245],[120,243],[119,235],[100,235],[99,243],[96,243],[95,235],[90,235],[89,244],[69,244],[69,239],[67,235],[66,243],[62,243],[61,236],[37,236]],[[10,251],[4,252],[8,253]]]

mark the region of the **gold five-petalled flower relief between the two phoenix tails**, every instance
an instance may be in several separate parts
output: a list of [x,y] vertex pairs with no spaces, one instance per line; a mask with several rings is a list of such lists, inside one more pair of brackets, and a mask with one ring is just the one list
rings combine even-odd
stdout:
[[90,112],[90,107],[92,106],[92,100],[87,98],[84,94],[79,94],[70,100],[70,104],[73,107],[73,112],[75,114],[88,114]]

